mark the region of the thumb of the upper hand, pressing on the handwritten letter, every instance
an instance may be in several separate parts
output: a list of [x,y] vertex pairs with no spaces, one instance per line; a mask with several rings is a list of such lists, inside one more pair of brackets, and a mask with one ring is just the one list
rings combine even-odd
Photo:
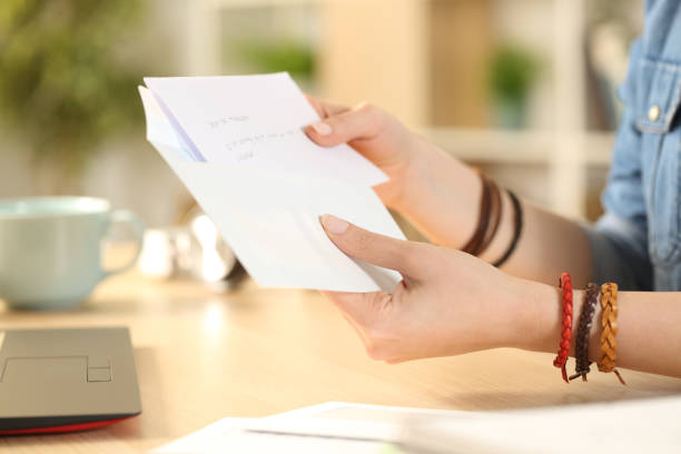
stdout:
[[353,140],[368,140],[384,129],[385,115],[379,109],[362,103],[351,110],[332,115],[305,128],[307,136],[323,147]]

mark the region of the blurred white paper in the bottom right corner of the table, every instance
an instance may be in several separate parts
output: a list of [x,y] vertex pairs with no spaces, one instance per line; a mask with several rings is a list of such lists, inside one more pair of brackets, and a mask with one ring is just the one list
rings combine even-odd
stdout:
[[661,397],[424,418],[407,425],[402,443],[433,454],[452,446],[481,454],[680,453],[680,397]]

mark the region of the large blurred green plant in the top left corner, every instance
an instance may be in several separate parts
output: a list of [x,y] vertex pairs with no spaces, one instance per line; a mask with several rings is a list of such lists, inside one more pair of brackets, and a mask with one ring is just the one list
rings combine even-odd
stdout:
[[1,0],[0,121],[69,177],[141,122],[141,73],[120,58],[139,0]]

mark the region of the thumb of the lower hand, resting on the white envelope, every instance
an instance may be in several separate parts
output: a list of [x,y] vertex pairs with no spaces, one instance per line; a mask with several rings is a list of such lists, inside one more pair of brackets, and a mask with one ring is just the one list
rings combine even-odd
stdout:
[[329,239],[348,256],[395,269],[405,277],[423,277],[427,268],[422,263],[425,245],[374,234],[332,215],[324,215],[320,220]]

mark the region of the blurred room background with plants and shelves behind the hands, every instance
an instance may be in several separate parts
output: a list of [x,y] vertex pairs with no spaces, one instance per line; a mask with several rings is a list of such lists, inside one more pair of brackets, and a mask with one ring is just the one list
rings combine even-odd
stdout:
[[642,0],[2,0],[0,197],[191,205],[145,141],[144,76],[289,71],[368,100],[530,200],[595,219]]

